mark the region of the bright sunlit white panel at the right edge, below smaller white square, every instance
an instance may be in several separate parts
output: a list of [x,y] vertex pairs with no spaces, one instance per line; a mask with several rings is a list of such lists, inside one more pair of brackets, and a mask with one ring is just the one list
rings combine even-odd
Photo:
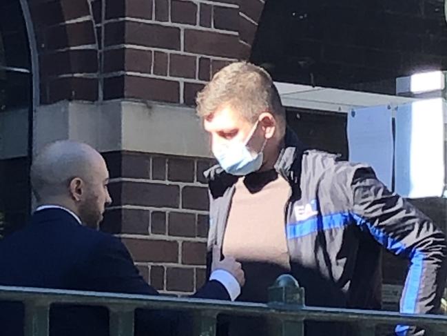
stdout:
[[399,106],[395,183],[404,197],[440,197],[444,190],[444,108],[441,98]]

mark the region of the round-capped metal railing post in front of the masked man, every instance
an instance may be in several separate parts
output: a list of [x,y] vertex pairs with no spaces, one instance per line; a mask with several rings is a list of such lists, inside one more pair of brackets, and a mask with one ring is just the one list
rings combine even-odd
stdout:
[[[269,288],[268,305],[284,310],[287,310],[287,306],[290,305],[303,307],[304,288],[300,288],[298,281],[291,275],[280,275],[273,286]],[[273,319],[269,329],[271,335],[304,336],[304,319]]]

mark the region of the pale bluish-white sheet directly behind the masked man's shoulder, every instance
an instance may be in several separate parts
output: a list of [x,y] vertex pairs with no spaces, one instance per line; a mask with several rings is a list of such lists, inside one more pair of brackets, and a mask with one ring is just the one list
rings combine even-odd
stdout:
[[360,108],[348,115],[349,161],[369,164],[390,190],[393,178],[393,129],[387,106]]

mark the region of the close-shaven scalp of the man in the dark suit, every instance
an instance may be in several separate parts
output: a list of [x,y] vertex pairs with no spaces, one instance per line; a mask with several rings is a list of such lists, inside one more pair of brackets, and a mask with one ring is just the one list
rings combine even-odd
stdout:
[[103,158],[92,147],[74,141],[56,141],[34,159],[31,183],[37,200],[68,195],[70,180],[89,181]]

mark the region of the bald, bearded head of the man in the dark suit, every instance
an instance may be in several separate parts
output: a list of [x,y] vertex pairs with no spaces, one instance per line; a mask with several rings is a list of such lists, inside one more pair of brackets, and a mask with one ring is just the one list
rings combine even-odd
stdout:
[[98,228],[112,202],[109,172],[101,154],[87,144],[56,141],[45,146],[31,166],[31,183],[39,205],[72,210],[83,224]]

